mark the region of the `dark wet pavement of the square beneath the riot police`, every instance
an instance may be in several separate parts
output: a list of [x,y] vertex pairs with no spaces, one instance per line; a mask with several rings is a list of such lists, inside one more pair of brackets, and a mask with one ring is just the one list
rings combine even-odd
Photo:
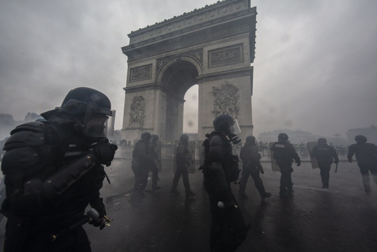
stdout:
[[[189,174],[191,189],[196,193],[186,199],[182,179],[178,190],[170,193],[173,181],[172,149],[163,148],[159,185],[152,193],[148,180],[146,197],[131,205],[134,177],[130,168],[132,147],[120,147],[112,165],[106,168],[111,184],[104,181],[101,196],[107,215],[114,219],[111,227],[99,230],[84,225],[93,252],[207,252],[209,251],[210,213],[202,173]],[[262,159],[261,175],[266,191],[272,196],[261,200],[249,178],[246,193],[239,199],[247,223],[252,228],[238,252],[376,252],[377,186],[371,177],[372,197],[366,198],[356,163],[339,163],[330,171],[329,190],[321,188],[319,169],[311,163],[294,166],[294,194],[279,198],[280,172],[272,171],[268,157]],[[198,163],[196,164],[198,165]],[[238,195],[238,185],[232,184]],[[0,223],[2,248],[5,220]]]

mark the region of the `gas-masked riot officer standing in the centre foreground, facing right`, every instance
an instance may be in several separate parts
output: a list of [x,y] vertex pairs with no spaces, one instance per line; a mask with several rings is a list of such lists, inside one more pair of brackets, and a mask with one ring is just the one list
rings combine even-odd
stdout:
[[210,249],[212,252],[234,251],[246,239],[250,225],[246,225],[230,183],[239,175],[238,156],[232,154],[233,144],[241,139],[237,119],[219,115],[213,122],[215,130],[204,141],[204,187],[209,195],[212,223]]

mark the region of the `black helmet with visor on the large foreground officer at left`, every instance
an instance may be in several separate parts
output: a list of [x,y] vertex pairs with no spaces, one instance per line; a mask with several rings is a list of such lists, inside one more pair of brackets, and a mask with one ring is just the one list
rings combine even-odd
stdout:
[[89,87],[77,87],[65,96],[59,113],[75,120],[75,129],[91,139],[106,137],[106,124],[113,116],[109,98]]

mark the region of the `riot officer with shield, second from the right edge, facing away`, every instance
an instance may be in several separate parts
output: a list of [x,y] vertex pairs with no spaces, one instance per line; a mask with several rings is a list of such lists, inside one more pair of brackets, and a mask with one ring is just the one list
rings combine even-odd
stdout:
[[333,147],[327,145],[326,139],[319,138],[318,145],[313,147],[312,158],[317,160],[322,179],[322,188],[328,189],[332,160],[335,159],[334,163],[337,165],[339,163],[338,154]]

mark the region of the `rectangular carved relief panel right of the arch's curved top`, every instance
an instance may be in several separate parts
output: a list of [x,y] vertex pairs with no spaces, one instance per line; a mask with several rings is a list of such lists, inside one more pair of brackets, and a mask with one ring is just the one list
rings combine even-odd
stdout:
[[244,61],[242,44],[208,51],[208,67],[234,64]]

